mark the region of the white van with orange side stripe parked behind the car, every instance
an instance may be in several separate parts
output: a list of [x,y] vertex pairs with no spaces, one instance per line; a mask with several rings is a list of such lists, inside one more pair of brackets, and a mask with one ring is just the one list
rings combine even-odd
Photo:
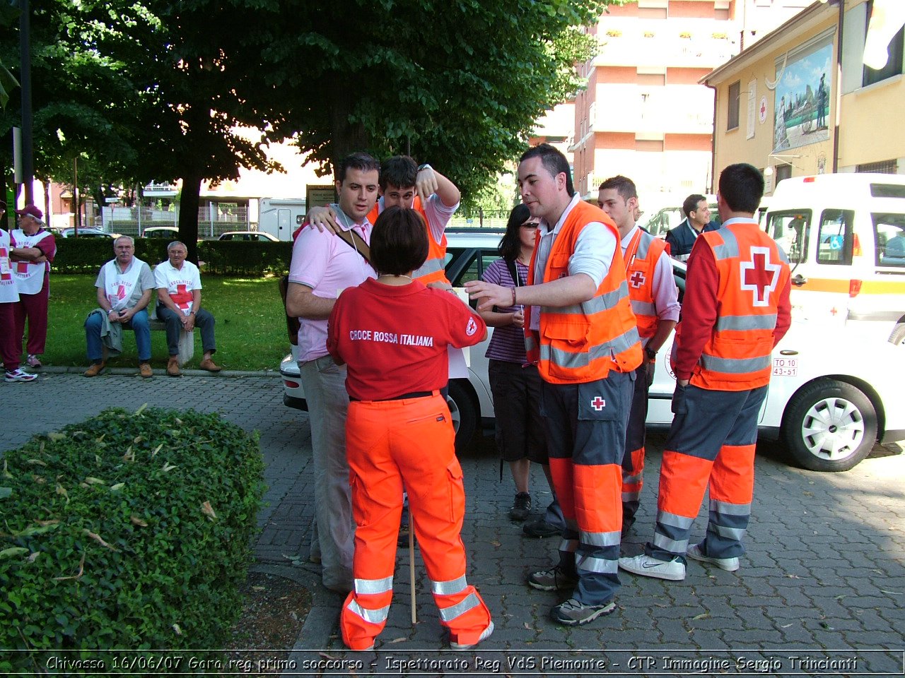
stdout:
[[905,322],[905,175],[786,179],[765,228],[788,255],[795,316],[890,337]]

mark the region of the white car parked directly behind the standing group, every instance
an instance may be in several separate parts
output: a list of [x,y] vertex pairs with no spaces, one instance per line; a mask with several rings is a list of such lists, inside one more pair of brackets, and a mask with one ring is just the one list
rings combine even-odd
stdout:
[[[497,259],[501,236],[499,231],[462,231],[447,231],[446,274],[455,287],[479,278]],[[674,261],[673,272],[681,296],[685,264]],[[876,440],[905,438],[905,408],[896,406],[905,395],[905,361],[901,347],[886,340],[890,329],[867,334],[857,327],[817,325],[793,316],[773,353],[773,377],[760,412],[761,437],[778,438],[798,465],[815,471],[848,470],[870,453]],[[472,347],[469,379],[450,381],[457,448],[467,445],[477,428],[492,426],[484,357],[489,340]],[[657,361],[647,413],[652,428],[668,428],[672,422],[671,349],[669,341]],[[290,353],[280,364],[283,402],[304,410],[295,358]]]

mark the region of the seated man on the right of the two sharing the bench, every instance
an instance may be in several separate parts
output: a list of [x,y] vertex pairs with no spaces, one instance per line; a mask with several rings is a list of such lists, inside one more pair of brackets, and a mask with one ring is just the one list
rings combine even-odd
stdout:
[[167,325],[167,374],[181,377],[179,361],[179,334],[191,332],[197,326],[201,330],[201,346],[205,354],[198,365],[208,372],[220,372],[211,356],[216,353],[214,340],[214,315],[201,307],[201,274],[198,267],[186,261],[186,246],[173,240],[167,245],[167,261],[154,268],[157,287],[157,318]]

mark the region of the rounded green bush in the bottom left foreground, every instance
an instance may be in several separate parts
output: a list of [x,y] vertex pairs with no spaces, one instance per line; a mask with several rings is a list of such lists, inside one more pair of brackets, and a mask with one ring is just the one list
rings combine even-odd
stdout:
[[[256,435],[217,414],[113,409],[2,463],[0,647],[223,645],[264,490]],[[3,673],[41,655],[6,656]]]

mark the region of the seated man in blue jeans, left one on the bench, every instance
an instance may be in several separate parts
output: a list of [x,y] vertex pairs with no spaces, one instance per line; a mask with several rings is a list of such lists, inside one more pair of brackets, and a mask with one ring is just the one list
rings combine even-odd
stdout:
[[151,330],[148,302],[154,288],[151,268],[135,257],[135,240],[123,235],[113,240],[115,259],[100,267],[94,287],[98,305],[85,320],[85,341],[91,366],[86,377],[96,377],[106,366],[106,353],[115,357],[122,352],[122,328],[135,332],[138,347],[138,373],[148,379],[151,372]]

